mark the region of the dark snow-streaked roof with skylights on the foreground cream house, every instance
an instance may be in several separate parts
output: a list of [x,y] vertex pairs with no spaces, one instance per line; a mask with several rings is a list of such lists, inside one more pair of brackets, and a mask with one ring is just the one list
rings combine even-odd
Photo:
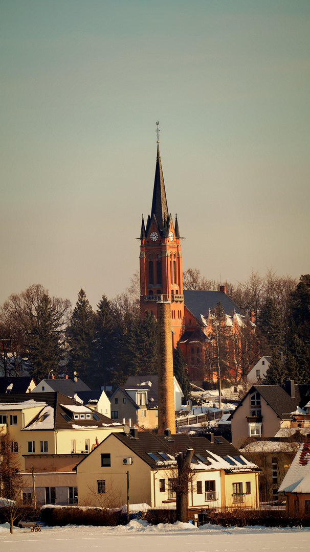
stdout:
[[[174,467],[176,465],[175,455],[192,448],[194,449],[193,460],[195,460],[191,465],[192,469],[208,471],[223,469],[234,473],[258,471],[258,466],[242,457],[239,450],[222,436],[214,437],[214,443],[211,443],[206,437],[191,438],[185,433],[177,433],[171,437],[166,437],[143,431],[138,433],[138,437],[132,437],[130,434],[119,432],[112,433],[107,439],[113,437],[120,440],[153,469]],[[106,439],[102,443],[105,441]],[[155,457],[152,458],[148,453],[152,453]],[[165,459],[159,453],[164,453],[169,459]],[[200,454],[206,461],[196,457],[196,454]],[[84,460],[81,460],[80,464]]]

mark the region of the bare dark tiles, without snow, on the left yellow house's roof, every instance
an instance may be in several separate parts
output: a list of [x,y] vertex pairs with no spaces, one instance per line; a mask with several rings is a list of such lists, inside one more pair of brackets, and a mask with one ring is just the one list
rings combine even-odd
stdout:
[[[72,429],[72,423],[75,426],[81,426],[81,427],[88,427],[88,426],[98,426],[98,428],[104,427],[104,425],[112,425],[114,423],[111,418],[108,418],[107,416],[103,416],[99,412],[95,412],[95,415],[98,416],[99,420],[95,420],[94,418],[91,418],[91,420],[74,420],[73,419],[73,412],[71,412],[69,409],[61,406],[81,406],[81,403],[73,401],[70,399],[70,397],[67,397],[66,395],[62,395],[59,392],[56,391],[46,391],[41,393],[20,393],[20,394],[14,394],[10,393],[9,395],[0,395],[0,403],[6,403],[6,402],[24,402],[24,401],[38,401],[38,402],[45,402],[46,405],[51,406],[54,410],[54,427],[50,429],[46,429],[46,431],[54,431],[54,429]],[[87,407],[88,408],[88,407]],[[42,407],[41,411],[27,424],[25,427],[30,427],[34,422],[36,422],[41,415],[42,410],[44,409],[44,406]],[[66,420],[63,414],[69,416],[70,420]],[[45,428],[41,428],[44,429]],[[39,428],[39,431],[41,431]],[[32,430],[35,431],[35,430]]]

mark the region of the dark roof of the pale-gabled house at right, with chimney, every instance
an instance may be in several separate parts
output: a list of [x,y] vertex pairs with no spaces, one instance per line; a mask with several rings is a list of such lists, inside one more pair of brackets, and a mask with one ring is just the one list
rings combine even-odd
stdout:
[[259,392],[261,397],[267,402],[272,410],[275,411],[277,416],[281,419],[287,419],[290,417],[292,412],[296,411],[297,407],[300,405],[302,397],[306,396],[307,391],[310,389],[310,385],[298,384],[294,385],[294,388],[295,397],[291,397],[291,395],[285,390],[285,384],[253,385],[228,419],[232,419],[235,411],[243,404],[245,397],[252,395],[255,391]]

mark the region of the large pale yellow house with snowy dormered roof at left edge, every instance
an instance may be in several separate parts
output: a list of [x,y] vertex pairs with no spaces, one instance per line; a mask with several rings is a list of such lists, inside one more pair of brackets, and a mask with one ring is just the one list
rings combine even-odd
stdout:
[[52,455],[88,454],[123,426],[59,392],[42,392],[0,395],[0,429],[9,434],[23,471],[25,456],[42,467],[41,459],[50,465]]

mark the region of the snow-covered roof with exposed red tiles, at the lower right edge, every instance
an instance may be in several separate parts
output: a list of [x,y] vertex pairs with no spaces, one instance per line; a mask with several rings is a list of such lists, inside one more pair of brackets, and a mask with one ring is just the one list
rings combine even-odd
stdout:
[[279,487],[279,492],[285,491],[310,493],[310,443],[300,445]]

